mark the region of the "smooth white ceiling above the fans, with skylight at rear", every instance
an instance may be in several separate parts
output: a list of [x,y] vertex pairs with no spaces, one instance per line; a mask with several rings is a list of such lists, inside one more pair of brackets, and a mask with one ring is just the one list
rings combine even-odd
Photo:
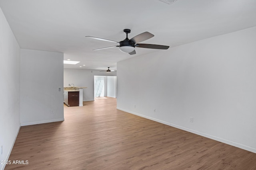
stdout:
[[155,36],[142,43],[175,47],[256,26],[256,0],[0,0],[0,7],[21,48],[80,61],[64,68],[116,69],[118,61],[159,51],[92,51],[118,44],[85,36],[122,41],[123,29],[130,39],[148,31]]

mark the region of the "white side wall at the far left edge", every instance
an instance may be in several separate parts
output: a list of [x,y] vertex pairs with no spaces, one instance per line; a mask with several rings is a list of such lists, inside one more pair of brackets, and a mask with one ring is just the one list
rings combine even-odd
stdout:
[[0,160],[8,160],[20,129],[20,47],[1,8],[0,89]]

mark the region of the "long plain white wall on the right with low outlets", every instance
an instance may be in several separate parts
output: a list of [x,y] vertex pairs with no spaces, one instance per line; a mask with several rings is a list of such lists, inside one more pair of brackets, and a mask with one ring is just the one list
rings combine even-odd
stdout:
[[256,27],[117,66],[118,109],[256,152]]

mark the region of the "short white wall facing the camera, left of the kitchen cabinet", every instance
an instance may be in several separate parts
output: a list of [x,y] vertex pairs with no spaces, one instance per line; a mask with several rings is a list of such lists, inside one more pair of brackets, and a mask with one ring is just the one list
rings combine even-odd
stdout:
[[20,58],[21,125],[64,121],[63,53],[21,49]]

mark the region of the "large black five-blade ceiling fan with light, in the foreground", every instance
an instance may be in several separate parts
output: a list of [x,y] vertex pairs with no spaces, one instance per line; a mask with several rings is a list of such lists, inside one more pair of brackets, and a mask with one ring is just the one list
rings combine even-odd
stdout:
[[169,46],[166,46],[166,45],[138,44],[142,41],[145,41],[147,39],[154,37],[154,35],[149,32],[144,32],[139,35],[136,35],[132,39],[128,39],[128,33],[130,33],[130,32],[131,32],[130,29],[124,29],[124,33],[126,33],[126,39],[124,39],[123,41],[120,41],[120,42],[109,40],[109,39],[98,38],[98,37],[92,37],[92,36],[85,36],[85,37],[102,40],[102,41],[114,42],[114,43],[119,44],[116,46],[104,47],[104,48],[94,49],[94,50],[102,50],[102,49],[108,49],[108,48],[112,48],[112,47],[119,47],[120,51],[122,51],[124,53],[129,53],[130,55],[136,54],[135,47],[147,48],[147,49],[168,49],[169,48]]

